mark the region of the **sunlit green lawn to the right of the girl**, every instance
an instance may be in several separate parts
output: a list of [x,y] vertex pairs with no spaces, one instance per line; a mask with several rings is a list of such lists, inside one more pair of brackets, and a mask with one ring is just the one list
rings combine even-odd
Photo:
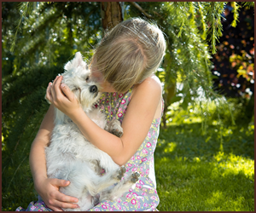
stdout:
[[161,211],[254,211],[254,127],[161,130],[154,155]]

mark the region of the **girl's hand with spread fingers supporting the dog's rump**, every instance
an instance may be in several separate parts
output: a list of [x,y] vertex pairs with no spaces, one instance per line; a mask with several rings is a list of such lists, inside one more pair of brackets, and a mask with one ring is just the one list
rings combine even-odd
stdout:
[[36,190],[44,203],[54,211],[63,211],[61,208],[76,209],[79,208],[79,199],[60,193],[59,187],[67,187],[69,181],[60,180],[56,178],[46,178],[44,181],[35,184]]

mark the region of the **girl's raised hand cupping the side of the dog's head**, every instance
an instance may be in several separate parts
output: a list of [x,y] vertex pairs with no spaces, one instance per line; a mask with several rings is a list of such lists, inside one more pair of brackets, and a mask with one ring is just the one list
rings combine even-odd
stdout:
[[49,83],[46,98],[69,118],[73,118],[82,108],[73,92],[66,84],[61,83],[62,78],[62,76],[57,76],[53,83]]

